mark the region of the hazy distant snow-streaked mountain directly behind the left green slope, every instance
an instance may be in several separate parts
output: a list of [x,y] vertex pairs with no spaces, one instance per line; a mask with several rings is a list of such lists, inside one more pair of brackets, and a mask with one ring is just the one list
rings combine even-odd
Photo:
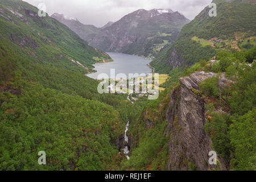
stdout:
[[64,14],[54,13],[51,17],[68,26],[72,31],[76,32],[76,34],[79,35],[81,39],[87,42],[92,41],[94,36],[96,36],[97,33],[101,30],[101,28],[97,28],[93,25],[82,24],[79,22],[79,20],[75,18],[69,18]]

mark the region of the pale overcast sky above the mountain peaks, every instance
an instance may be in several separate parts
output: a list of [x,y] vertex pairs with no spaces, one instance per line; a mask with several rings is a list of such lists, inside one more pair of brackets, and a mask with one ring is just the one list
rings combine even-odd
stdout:
[[188,19],[194,19],[212,0],[23,0],[38,7],[46,4],[49,15],[63,13],[77,18],[81,23],[102,27],[109,21],[117,21],[122,16],[138,9],[172,9]]

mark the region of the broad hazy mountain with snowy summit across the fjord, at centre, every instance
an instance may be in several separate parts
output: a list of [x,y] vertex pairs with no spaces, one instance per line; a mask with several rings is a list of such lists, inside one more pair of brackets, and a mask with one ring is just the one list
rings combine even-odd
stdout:
[[188,22],[177,11],[141,9],[101,30],[90,44],[103,51],[154,57],[175,42],[181,27]]

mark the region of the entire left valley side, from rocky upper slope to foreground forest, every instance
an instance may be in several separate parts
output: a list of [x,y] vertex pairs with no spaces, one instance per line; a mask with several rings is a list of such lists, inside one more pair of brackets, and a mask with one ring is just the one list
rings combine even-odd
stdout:
[[98,94],[84,75],[93,57],[109,56],[38,11],[0,1],[0,170],[113,170],[136,109],[126,96]]

